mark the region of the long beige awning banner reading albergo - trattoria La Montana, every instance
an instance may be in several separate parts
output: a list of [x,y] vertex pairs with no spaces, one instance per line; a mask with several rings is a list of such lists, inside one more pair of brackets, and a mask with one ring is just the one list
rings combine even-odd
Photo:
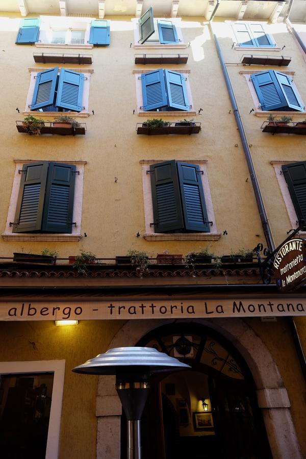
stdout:
[[306,298],[1,302],[0,320],[305,316]]

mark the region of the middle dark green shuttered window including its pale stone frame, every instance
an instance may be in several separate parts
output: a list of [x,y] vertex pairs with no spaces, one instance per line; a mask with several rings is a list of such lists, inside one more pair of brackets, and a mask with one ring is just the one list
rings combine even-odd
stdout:
[[206,160],[142,160],[146,240],[218,240]]

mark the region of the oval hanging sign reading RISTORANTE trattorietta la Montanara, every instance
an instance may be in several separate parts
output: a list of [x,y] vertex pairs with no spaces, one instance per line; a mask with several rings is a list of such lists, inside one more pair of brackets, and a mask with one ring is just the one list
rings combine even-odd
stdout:
[[296,289],[306,282],[306,241],[291,239],[282,245],[273,262],[276,284],[282,292]]

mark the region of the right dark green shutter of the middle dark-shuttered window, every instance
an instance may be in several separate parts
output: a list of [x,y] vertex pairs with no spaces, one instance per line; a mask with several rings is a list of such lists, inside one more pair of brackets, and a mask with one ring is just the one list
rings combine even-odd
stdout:
[[177,162],[185,230],[210,233],[199,166]]

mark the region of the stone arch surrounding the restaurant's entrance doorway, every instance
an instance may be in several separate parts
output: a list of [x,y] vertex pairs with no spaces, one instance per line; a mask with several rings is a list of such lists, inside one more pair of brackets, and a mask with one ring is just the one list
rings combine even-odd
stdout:
[[[110,348],[135,346],[149,331],[172,322],[174,320],[169,319],[129,320],[114,336]],[[287,390],[271,353],[254,330],[239,318],[181,319],[175,322],[203,324],[218,331],[236,347],[252,373],[273,458],[302,459]],[[120,415],[115,377],[99,376],[96,410],[98,459],[120,459]]]

